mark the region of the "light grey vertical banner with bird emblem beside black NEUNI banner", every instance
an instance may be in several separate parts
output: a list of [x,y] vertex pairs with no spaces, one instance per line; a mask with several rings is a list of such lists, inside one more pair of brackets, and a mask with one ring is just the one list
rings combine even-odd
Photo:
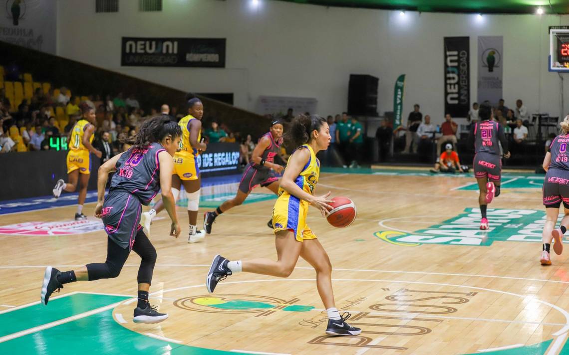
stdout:
[[503,48],[502,36],[478,37],[478,102],[497,106],[502,98]]

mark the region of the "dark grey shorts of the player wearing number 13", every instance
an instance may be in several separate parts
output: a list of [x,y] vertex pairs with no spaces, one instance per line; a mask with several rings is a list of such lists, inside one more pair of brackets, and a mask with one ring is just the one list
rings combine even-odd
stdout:
[[133,248],[137,232],[142,228],[142,204],[127,192],[111,192],[103,203],[102,221],[109,238],[119,247]]

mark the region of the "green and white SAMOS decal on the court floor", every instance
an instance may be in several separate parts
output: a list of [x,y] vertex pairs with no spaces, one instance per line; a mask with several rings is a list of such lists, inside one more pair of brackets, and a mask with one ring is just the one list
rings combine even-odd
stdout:
[[380,231],[378,239],[402,247],[423,244],[479,245],[488,247],[494,241],[532,241],[541,243],[545,211],[488,208],[490,228],[481,231],[480,208],[464,212],[440,224],[415,232]]

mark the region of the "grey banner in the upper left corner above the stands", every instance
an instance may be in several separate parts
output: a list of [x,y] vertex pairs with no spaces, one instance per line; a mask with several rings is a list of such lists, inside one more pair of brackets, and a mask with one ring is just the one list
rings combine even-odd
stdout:
[[56,1],[4,0],[0,40],[55,55]]

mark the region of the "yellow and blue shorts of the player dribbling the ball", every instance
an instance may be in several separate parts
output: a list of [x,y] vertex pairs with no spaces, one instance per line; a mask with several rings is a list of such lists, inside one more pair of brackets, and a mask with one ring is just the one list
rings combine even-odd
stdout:
[[306,224],[308,202],[299,198],[282,194],[275,202],[273,209],[273,232],[292,231],[296,240],[316,239],[312,229]]

